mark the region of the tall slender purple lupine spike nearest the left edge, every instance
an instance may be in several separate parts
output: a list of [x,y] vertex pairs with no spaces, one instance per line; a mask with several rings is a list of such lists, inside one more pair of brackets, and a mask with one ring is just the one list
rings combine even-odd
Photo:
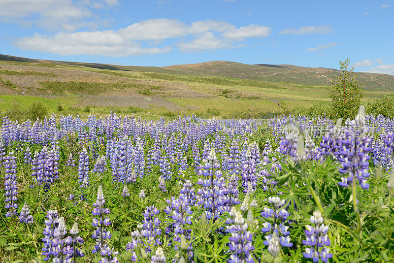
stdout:
[[9,152],[9,154],[5,157],[4,167],[4,202],[5,209],[7,209],[5,217],[12,217],[13,215],[18,214],[16,211],[16,209],[18,208],[18,187],[16,185],[16,157],[14,156],[13,152]]

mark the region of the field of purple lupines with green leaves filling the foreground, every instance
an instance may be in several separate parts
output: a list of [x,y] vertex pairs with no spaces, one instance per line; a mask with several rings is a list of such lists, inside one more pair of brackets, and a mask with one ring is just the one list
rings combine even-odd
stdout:
[[393,262],[394,120],[3,118],[2,262]]

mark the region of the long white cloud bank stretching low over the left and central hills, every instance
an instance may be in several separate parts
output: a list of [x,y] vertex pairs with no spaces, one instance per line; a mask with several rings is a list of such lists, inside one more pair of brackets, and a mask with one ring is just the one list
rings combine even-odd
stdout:
[[[220,34],[220,38],[215,33]],[[187,43],[179,42],[178,48],[182,52],[240,47],[242,45],[234,45],[234,42],[268,34],[269,28],[260,25],[236,28],[223,21],[195,21],[186,25],[176,19],[150,19],[119,30],[56,33],[52,36],[36,33],[19,39],[16,45],[24,50],[60,55],[127,57],[170,52],[171,47],[157,46],[163,45],[165,39],[182,41],[183,37],[189,35],[196,38]],[[149,48],[141,47],[139,41],[148,41],[146,45]]]

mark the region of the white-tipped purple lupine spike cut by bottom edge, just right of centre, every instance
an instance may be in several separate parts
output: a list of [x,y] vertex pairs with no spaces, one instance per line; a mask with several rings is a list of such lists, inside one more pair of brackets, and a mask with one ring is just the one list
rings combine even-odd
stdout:
[[229,249],[231,252],[229,263],[253,263],[252,253],[255,249],[253,246],[253,234],[248,231],[248,224],[245,223],[240,211],[236,211],[233,225],[227,226],[231,233]]

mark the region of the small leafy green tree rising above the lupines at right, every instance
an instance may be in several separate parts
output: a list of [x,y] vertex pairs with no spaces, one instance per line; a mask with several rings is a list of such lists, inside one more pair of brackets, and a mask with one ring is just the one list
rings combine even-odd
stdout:
[[329,97],[332,99],[332,117],[342,118],[343,121],[356,117],[363,97],[362,84],[357,81],[357,76],[350,78],[354,69],[352,67],[348,71],[349,63],[349,60],[339,61],[342,72],[327,86]]

